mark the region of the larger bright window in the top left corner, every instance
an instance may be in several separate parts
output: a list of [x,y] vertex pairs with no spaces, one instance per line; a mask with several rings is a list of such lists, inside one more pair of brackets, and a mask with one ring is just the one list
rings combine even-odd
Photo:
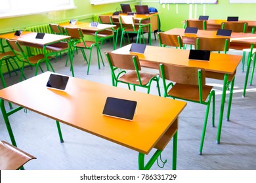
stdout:
[[1,0],[0,18],[75,8],[73,0]]

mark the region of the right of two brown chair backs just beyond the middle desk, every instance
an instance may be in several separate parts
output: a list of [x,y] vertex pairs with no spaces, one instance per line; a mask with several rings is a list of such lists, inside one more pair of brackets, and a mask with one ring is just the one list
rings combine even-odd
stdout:
[[207,38],[198,37],[196,39],[195,48],[196,50],[210,50],[225,53],[229,50],[230,39],[229,38]]

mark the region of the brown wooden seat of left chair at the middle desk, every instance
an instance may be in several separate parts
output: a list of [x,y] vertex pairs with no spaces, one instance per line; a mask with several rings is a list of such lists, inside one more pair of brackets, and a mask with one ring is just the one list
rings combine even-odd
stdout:
[[[140,79],[142,82],[142,85],[148,84],[150,80],[154,77],[157,76],[154,73],[145,73],[143,71],[140,71]],[[139,85],[139,80],[136,71],[129,71],[125,75],[121,76],[118,78],[119,81],[121,82],[126,82],[126,83],[132,83],[132,84],[138,84]]]

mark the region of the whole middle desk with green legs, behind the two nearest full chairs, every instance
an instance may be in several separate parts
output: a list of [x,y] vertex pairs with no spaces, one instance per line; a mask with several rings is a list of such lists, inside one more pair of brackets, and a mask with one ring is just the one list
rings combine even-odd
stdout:
[[[182,65],[187,67],[200,67],[205,69],[208,73],[211,73],[217,78],[223,80],[223,93],[221,99],[221,108],[219,115],[219,125],[217,133],[217,144],[220,143],[221,139],[221,127],[223,122],[223,112],[224,112],[224,103],[226,99],[226,91],[228,89],[228,75],[235,75],[236,68],[240,63],[242,56],[234,56],[230,54],[218,54],[211,53],[209,61],[196,61],[189,60],[189,50],[180,50],[173,48],[164,48],[159,46],[146,46],[144,54],[138,54],[135,52],[129,52],[131,44],[123,46],[115,51],[116,54],[136,54],[139,56],[140,65],[142,67],[149,67],[152,69],[158,69],[160,62],[162,63],[171,63],[175,65]],[[206,75],[207,76],[207,75]],[[227,109],[227,119],[230,116],[230,108],[232,103],[232,90],[234,88],[234,79],[231,82],[230,97]]]

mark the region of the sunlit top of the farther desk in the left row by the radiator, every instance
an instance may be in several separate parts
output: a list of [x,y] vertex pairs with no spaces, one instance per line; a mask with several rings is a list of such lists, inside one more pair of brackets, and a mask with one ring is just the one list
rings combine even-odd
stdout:
[[89,22],[77,22],[77,24],[75,25],[70,23],[64,23],[59,25],[60,27],[80,28],[86,31],[102,31],[106,29],[111,29],[112,27],[116,27],[116,25],[111,25],[111,24],[98,24],[97,27],[91,27],[90,24],[91,23]]

